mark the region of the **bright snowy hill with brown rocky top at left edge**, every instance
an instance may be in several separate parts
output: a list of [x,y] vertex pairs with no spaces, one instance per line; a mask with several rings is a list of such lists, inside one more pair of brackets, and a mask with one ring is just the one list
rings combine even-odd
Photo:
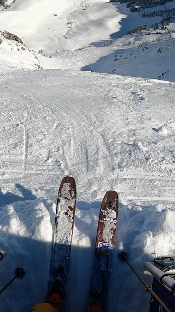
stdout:
[[16,35],[0,30],[0,71],[42,69],[37,56]]

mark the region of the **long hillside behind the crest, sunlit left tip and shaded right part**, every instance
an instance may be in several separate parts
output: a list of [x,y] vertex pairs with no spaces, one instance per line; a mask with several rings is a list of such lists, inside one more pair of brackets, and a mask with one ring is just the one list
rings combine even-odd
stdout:
[[74,70],[174,81],[175,34],[170,38],[167,33],[144,33],[125,35],[108,46],[57,52],[49,59],[38,55],[38,59],[44,69],[69,69],[71,64]]

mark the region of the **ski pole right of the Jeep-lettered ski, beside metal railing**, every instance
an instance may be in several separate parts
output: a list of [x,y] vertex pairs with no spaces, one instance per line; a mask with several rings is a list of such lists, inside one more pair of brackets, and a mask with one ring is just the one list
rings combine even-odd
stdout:
[[152,290],[151,286],[149,286],[142,278],[141,276],[135,271],[133,266],[129,263],[127,260],[128,254],[126,252],[121,252],[118,254],[118,257],[120,260],[125,261],[127,265],[130,267],[130,269],[135,273],[135,275],[138,277],[138,279],[141,281],[141,283],[145,286],[145,290],[148,291],[151,295],[154,296],[154,298],[160,303],[160,305],[165,309],[167,312],[172,312],[168,309],[168,307],[163,303],[163,301],[156,295],[156,293]]

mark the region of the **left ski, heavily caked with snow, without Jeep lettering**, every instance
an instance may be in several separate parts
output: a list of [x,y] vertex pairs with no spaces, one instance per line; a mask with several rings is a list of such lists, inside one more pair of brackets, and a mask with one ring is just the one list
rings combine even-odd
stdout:
[[72,177],[64,177],[59,187],[55,213],[49,287],[49,291],[56,290],[56,292],[61,296],[63,310],[69,272],[75,206],[75,180]]

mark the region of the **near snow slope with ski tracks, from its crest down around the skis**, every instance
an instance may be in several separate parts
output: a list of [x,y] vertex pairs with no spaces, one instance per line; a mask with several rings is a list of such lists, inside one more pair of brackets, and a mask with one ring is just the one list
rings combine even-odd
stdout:
[[[66,311],[85,311],[99,208],[105,192],[113,189],[119,193],[120,215],[107,311],[147,312],[149,295],[118,262],[117,253],[129,252],[142,276],[145,260],[174,254],[175,84],[43,70],[4,74],[0,90],[1,248],[8,252],[1,264],[1,285],[7,271],[11,276],[19,265],[26,270],[25,278],[3,294],[2,312],[9,297],[14,312],[27,311],[45,298],[49,276],[43,270],[53,211],[41,198],[55,203],[65,175],[74,176],[78,193]],[[40,241],[43,252],[33,250]],[[32,252],[37,262],[31,266]],[[144,278],[150,282],[149,276]]]

